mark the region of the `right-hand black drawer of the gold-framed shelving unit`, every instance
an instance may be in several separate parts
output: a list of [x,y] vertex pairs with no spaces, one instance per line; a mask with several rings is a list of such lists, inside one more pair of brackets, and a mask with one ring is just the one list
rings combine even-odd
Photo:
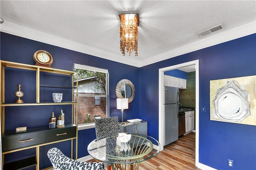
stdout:
[[76,126],[73,127],[62,127],[59,129],[52,129],[46,131],[46,142],[59,141],[63,139],[69,139],[76,137]]

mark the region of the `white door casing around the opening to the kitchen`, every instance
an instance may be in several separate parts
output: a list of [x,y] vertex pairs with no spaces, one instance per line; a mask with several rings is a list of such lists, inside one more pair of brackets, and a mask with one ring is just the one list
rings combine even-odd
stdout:
[[190,61],[186,63],[177,64],[174,66],[168,66],[159,69],[159,143],[161,150],[164,149],[164,72],[179,68],[185,68],[189,66],[195,66],[196,70],[196,166],[199,163],[199,60]]

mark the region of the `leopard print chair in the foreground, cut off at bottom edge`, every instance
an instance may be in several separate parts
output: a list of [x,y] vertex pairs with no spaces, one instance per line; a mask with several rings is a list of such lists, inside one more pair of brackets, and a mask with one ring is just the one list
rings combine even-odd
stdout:
[[65,156],[58,148],[48,150],[47,156],[54,170],[104,170],[101,162],[80,162]]

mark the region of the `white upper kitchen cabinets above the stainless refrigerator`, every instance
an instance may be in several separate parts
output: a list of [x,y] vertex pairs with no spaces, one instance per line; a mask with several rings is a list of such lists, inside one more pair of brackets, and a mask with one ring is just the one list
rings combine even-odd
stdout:
[[182,78],[177,78],[173,76],[164,75],[164,85],[170,87],[178,87],[180,89],[186,89],[187,80]]

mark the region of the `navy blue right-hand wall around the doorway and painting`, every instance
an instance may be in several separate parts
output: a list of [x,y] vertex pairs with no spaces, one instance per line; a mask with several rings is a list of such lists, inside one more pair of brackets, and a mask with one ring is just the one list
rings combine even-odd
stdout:
[[210,121],[210,80],[256,75],[256,34],[140,68],[140,118],[158,139],[158,69],[199,59],[199,162],[219,170],[256,169],[256,126]]

